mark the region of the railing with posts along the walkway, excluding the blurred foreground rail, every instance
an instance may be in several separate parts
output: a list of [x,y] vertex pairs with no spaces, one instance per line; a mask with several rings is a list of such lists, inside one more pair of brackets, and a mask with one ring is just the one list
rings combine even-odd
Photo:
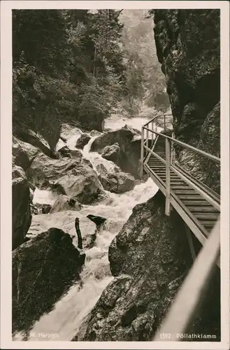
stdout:
[[[161,116],[162,117],[162,116]],[[171,121],[166,120],[167,115],[163,115],[164,117],[164,123],[161,123],[164,125],[163,131],[166,132],[168,130],[172,131],[173,136],[173,128],[169,129],[166,127],[166,125],[169,123],[172,125]],[[194,146],[190,146],[188,144],[185,144],[182,141],[178,141],[174,137],[169,137],[166,134],[162,134],[161,132],[157,132],[157,127],[159,126],[159,123],[157,123],[157,120],[159,120],[159,116],[155,116],[150,120],[148,123],[143,125],[142,132],[141,132],[141,174],[140,176],[143,177],[143,167],[144,167],[144,158],[146,160],[148,155],[154,155],[155,158],[160,160],[166,165],[166,215],[170,214],[170,197],[171,197],[171,176],[170,173],[173,171],[175,174],[180,176],[180,179],[185,181],[191,188],[196,190],[203,199],[207,200],[213,207],[220,210],[220,201],[217,200],[218,195],[216,194],[216,198],[213,197],[213,191],[212,193],[208,193],[208,191],[205,189],[206,186],[203,184],[201,186],[200,181],[196,181],[193,177],[187,176],[185,172],[181,172],[180,168],[175,165],[175,152],[174,152],[174,144],[178,144],[179,146],[182,146],[182,148],[187,148],[189,151],[192,151],[193,153],[199,154],[204,158],[208,158],[209,160],[212,160],[213,162],[216,162],[218,165],[220,165],[220,158],[217,158],[215,155],[211,155],[209,153],[206,153],[204,151],[199,150],[198,148],[195,148]],[[152,127],[152,129],[150,129]],[[160,155],[154,152],[153,146],[153,140],[154,142],[157,141],[157,139],[161,137],[165,139],[165,160],[161,158]],[[149,141],[152,140],[152,143],[149,145]],[[145,152],[145,153],[144,153]]]

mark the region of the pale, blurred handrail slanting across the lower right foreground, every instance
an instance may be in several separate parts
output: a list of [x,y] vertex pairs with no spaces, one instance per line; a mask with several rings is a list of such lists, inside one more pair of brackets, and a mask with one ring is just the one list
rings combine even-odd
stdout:
[[[201,302],[210,285],[214,267],[220,254],[220,217],[215,227],[194,261],[185,281],[175,297],[168,315],[153,337],[153,341],[180,341],[180,335],[185,334],[192,324]],[[167,338],[163,335],[170,334]]]

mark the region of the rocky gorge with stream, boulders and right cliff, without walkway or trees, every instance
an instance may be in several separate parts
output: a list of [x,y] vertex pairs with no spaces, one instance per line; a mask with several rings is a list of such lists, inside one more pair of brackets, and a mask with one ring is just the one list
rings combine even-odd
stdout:
[[[154,24],[176,137],[220,155],[218,11],[154,10]],[[184,223],[175,211],[165,216],[164,195],[139,178],[135,118],[112,121],[104,130],[61,123],[53,139],[54,125],[15,129],[13,337],[45,329],[57,340],[150,341],[192,266]],[[220,191],[220,169],[176,152]],[[189,332],[220,338],[219,278]]]

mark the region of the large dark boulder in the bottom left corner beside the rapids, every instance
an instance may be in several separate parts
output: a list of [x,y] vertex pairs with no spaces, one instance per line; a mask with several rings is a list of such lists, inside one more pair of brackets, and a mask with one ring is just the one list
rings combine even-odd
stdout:
[[84,255],[68,234],[50,228],[13,251],[13,331],[27,330],[51,311],[79,278]]

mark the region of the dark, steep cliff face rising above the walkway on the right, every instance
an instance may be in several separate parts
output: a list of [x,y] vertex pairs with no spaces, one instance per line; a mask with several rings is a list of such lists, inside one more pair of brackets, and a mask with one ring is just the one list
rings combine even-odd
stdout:
[[[220,10],[154,10],[154,23],[175,137],[219,157]],[[220,193],[220,167],[176,151],[180,165]]]

